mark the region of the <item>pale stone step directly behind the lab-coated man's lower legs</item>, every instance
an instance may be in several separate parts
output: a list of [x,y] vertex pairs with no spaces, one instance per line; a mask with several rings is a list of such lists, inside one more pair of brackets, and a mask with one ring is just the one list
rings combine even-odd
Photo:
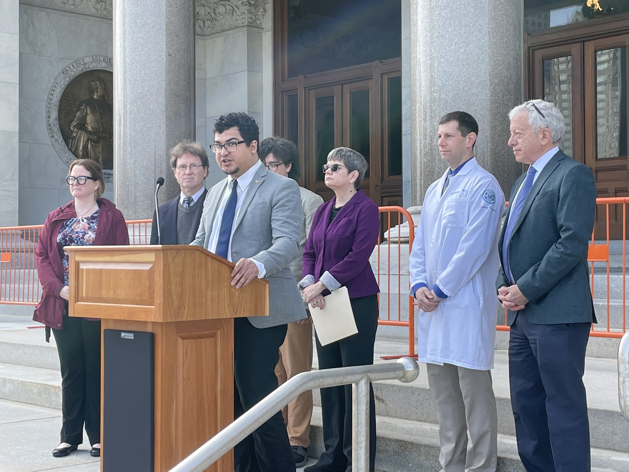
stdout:
[[[402,347],[392,342],[376,342],[374,362],[380,356]],[[318,361],[313,361],[317,366]],[[508,354],[496,352],[492,371],[501,434],[515,435],[509,391]],[[614,359],[586,359],[584,384],[587,391],[591,443],[593,447],[629,452],[629,422],[620,413],[618,403],[618,366]],[[420,363],[420,375],[411,383],[381,381],[374,383],[376,413],[386,417],[437,424],[437,415],[428,391],[426,365]],[[316,405],[321,404],[318,390],[313,391]],[[610,434],[613,432],[613,434]]]

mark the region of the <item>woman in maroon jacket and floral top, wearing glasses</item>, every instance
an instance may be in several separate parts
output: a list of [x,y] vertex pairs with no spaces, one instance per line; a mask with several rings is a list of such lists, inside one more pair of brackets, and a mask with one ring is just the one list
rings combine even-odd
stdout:
[[67,183],[74,199],[50,212],[35,249],[43,295],[33,320],[46,325],[47,341],[52,328],[61,364],[63,425],[61,444],[52,455],[62,457],[76,451],[83,442],[85,425],[92,444],[90,454],[97,457],[101,454],[101,322],[68,317],[68,254],[64,246],[127,245],[129,235],[120,210],[101,198],[105,181],[96,161],[72,162]]

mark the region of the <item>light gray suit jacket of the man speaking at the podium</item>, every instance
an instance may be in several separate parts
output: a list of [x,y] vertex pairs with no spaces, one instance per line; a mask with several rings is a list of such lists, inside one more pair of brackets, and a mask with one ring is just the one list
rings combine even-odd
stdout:
[[[208,191],[203,215],[191,244],[208,249],[216,211],[228,179]],[[303,210],[298,184],[261,166],[247,191],[234,223],[231,260],[252,257],[264,264],[269,281],[269,316],[248,317],[256,328],[283,325],[306,318],[306,310],[289,264],[299,254]],[[262,307],[260,307],[262,308]]]

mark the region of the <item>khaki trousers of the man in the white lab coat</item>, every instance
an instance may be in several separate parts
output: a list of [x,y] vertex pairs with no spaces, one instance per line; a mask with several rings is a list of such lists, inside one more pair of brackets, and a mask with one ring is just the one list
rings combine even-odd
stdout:
[[491,371],[452,364],[426,364],[426,370],[439,420],[442,472],[495,472],[498,413]]

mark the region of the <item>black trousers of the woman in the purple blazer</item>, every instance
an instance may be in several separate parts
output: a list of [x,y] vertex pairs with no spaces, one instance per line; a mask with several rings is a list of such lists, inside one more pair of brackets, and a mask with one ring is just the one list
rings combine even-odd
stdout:
[[[374,363],[374,342],[378,327],[377,295],[351,298],[358,333],[321,346],[316,338],[320,369],[366,366]],[[352,386],[321,388],[323,444],[325,452],[317,466],[326,471],[352,470]],[[376,459],[376,403],[374,389],[369,385],[369,470],[374,471]]]

